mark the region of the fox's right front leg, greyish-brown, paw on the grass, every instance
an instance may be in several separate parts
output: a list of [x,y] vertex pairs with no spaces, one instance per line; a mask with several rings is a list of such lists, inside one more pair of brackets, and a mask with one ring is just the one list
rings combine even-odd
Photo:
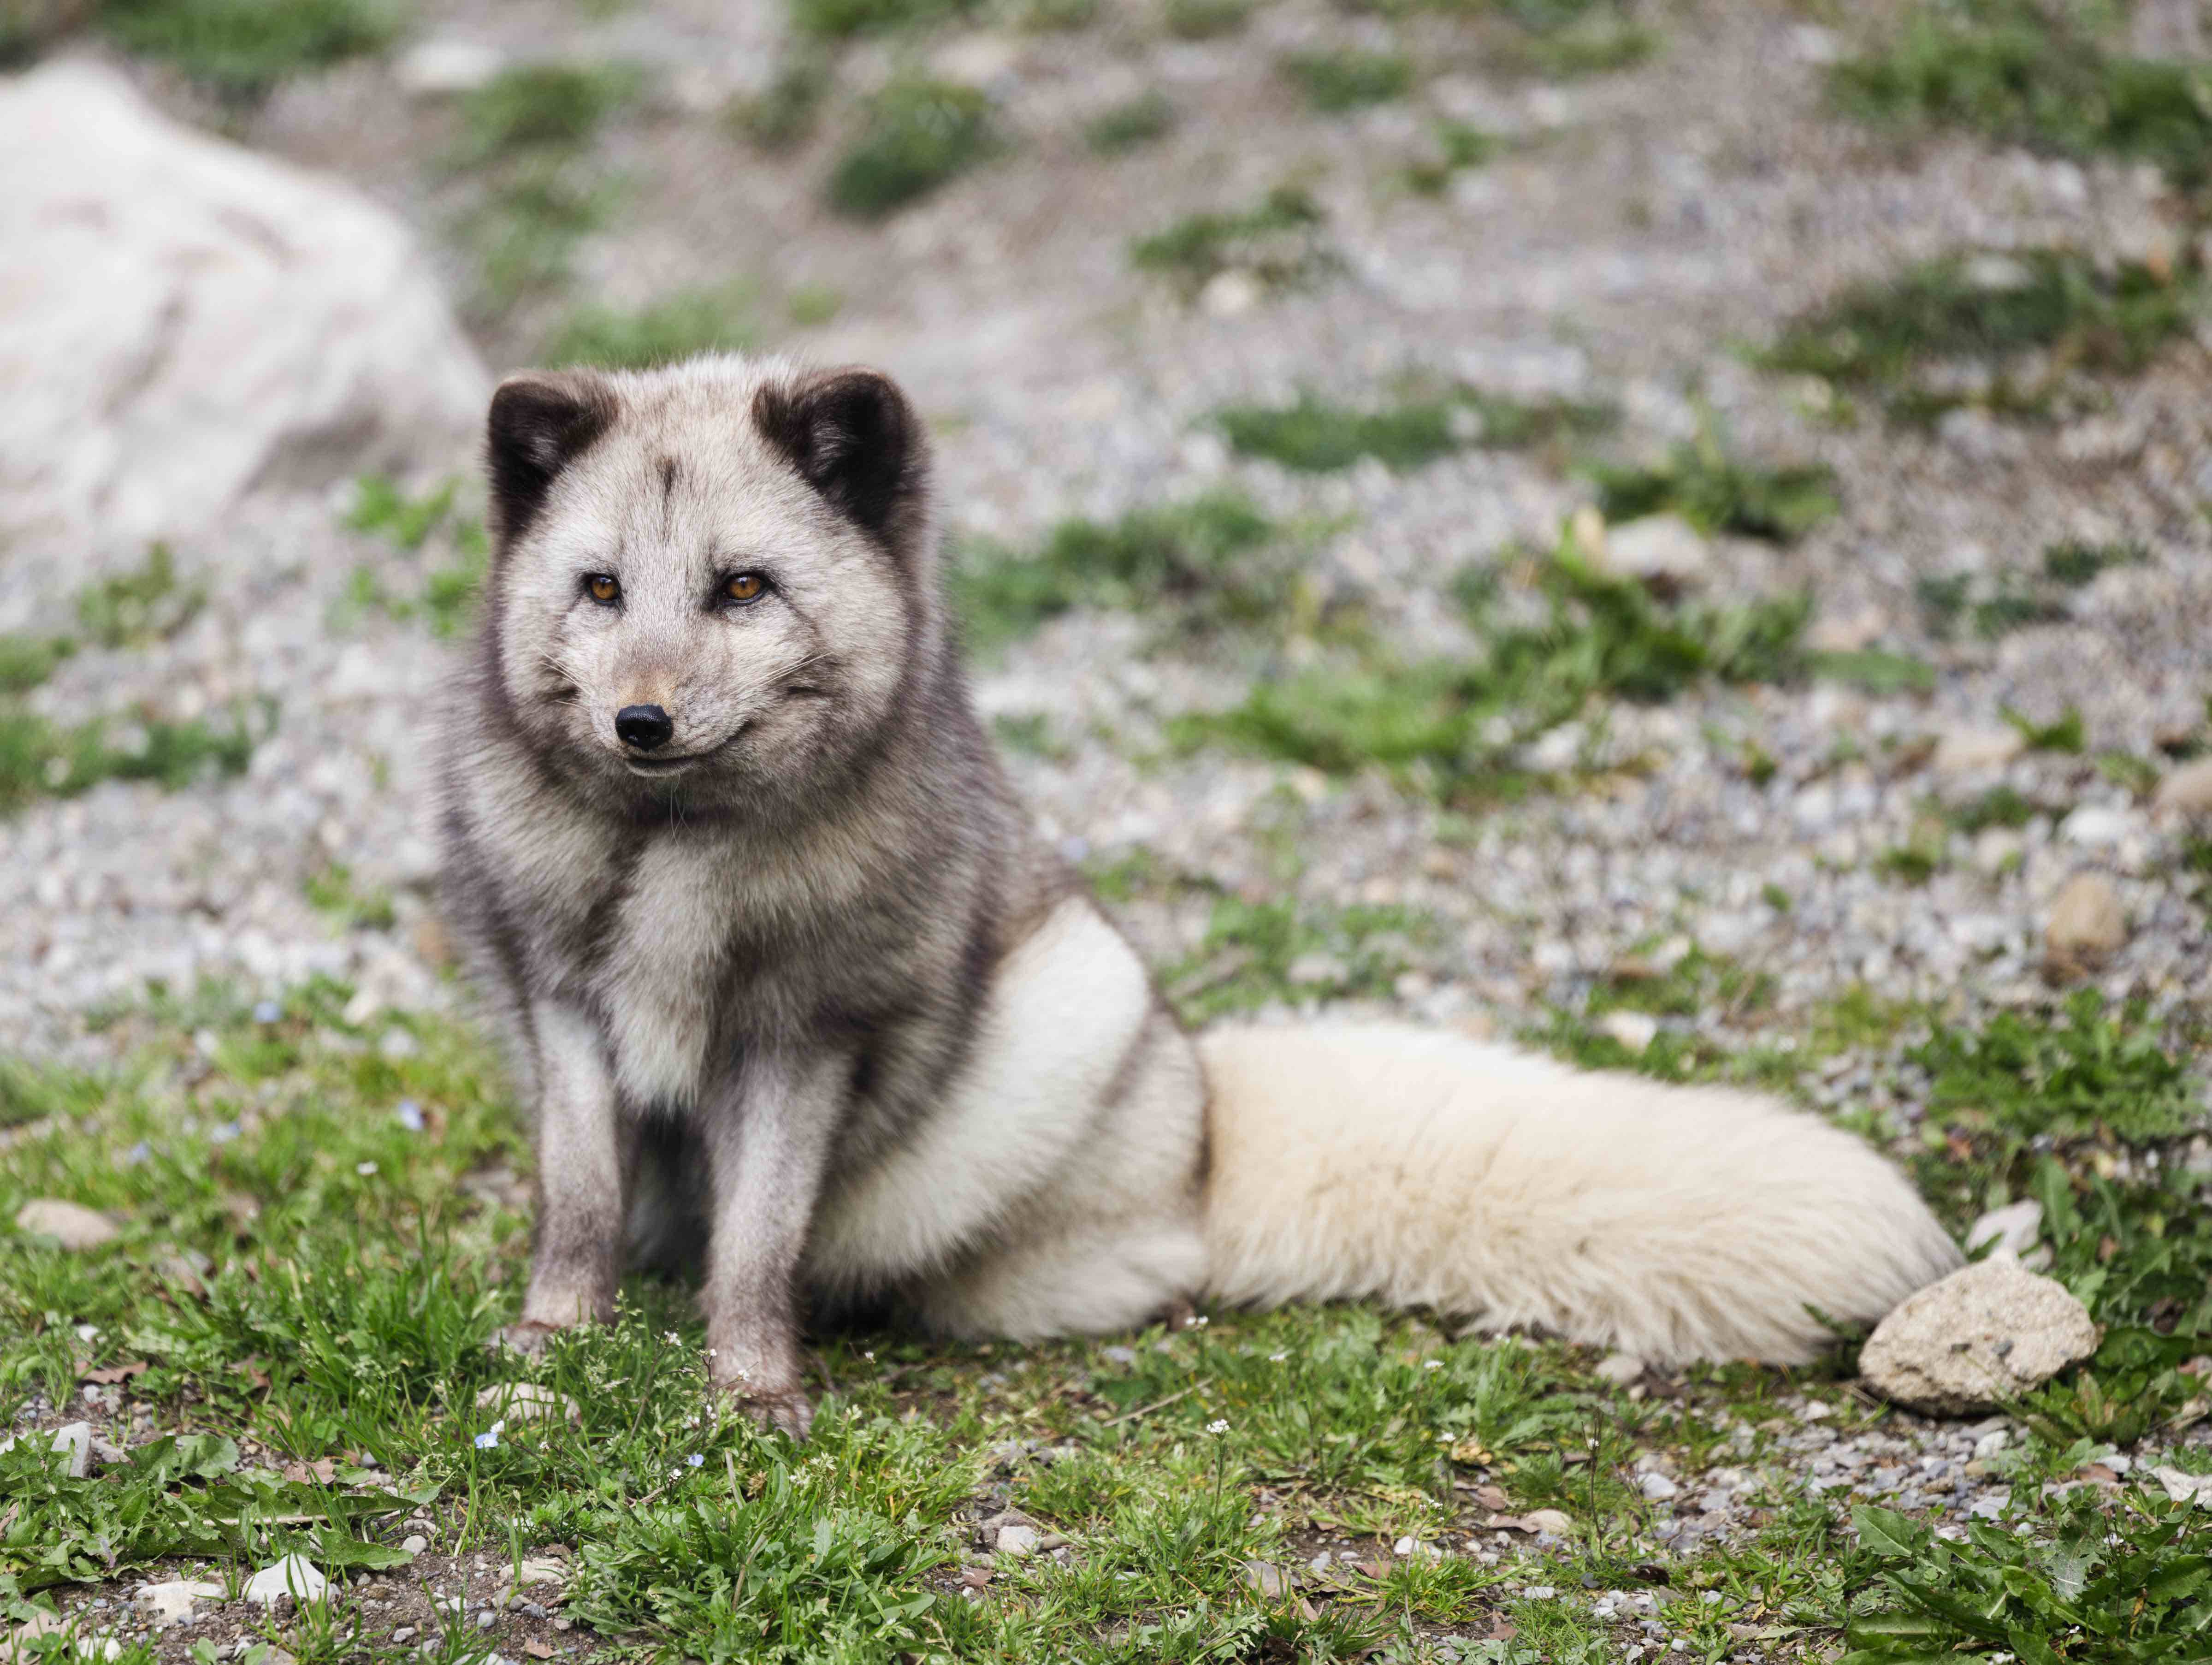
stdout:
[[708,1378],[794,1439],[814,1422],[799,1380],[799,1256],[849,1081],[845,1055],[754,1053],[703,1123],[714,1181],[701,1296]]

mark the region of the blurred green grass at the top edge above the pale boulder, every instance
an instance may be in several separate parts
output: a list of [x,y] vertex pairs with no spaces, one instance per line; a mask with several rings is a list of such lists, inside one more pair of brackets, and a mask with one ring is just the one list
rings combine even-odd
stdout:
[[398,0],[106,0],[97,15],[124,51],[250,104],[292,75],[385,51],[409,13]]

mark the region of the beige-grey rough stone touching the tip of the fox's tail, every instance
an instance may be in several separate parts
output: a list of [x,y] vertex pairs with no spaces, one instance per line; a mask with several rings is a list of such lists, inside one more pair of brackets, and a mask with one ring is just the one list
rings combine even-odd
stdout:
[[1885,1400],[1964,1415],[2017,1400],[2097,1351],[2088,1307],[2017,1260],[1960,1267],[1898,1305],[1858,1353]]

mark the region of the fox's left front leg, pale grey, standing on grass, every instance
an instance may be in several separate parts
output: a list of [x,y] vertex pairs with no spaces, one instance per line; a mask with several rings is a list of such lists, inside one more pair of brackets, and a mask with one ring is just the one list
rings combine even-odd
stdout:
[[538,1229],[522,1318],[500,1340],[544,1351],[555,1329],[608,1322],[622,1278],[637,1125],[624,1117],[599,1026],[571,1006],[531,1008],[538,1041]]

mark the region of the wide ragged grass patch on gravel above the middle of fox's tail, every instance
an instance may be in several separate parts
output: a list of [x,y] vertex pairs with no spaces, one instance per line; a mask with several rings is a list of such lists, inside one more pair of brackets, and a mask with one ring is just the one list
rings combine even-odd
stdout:
[[[1573,540],[1537,573],[1548,617],[1475,612],[1469,661],[1369,657],[1261,681],[1228,712],[1170,725],[1181,745],[1305,763],[1329,774],[1383,767],[1444,800],[1533,785],[1515,752],[1601,699],[1663,701],[1705,679],[1781,681],[1801,670],[1805,597],[1663,606],[1584,562]],[[1469,586],[1478,606],[1489,586]]]

